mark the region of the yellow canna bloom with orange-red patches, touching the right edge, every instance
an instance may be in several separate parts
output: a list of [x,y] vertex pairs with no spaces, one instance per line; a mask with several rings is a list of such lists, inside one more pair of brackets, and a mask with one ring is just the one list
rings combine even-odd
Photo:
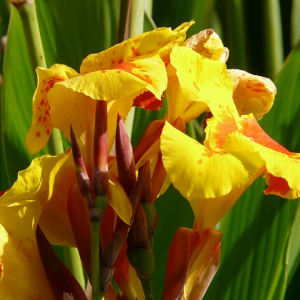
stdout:
[[161,135],[164,167],[190,202],[199,232],[214,228],[261,174],[266,194],[300,196],[300,154],[272,140],[252,115],[224,112],[208,120],[204,145],[166,123]]

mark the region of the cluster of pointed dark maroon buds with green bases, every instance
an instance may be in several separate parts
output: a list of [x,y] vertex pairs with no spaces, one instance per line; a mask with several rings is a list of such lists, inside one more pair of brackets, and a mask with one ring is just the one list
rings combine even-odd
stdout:
[[[101,295],[106,293],[114,276],[116,260],[122,253],[127,253],[126,259],[136,270],[144,290],[151,291],[151,276],[155,267],[152,243],[157,218],[152,202],[149,163],[146,162],[139,168],[137,177],[130,138],[121,116],[118,115],[115,135],[117,176],[130,200],[132,217],[130,224],[126,224],[117,216],[108,242],[102,245],[100,226],[106,225],[101,225],[101,221],[107,208],[106,195],[110,188],[106,102],[97,101],[96,105],[93,187],[72,127],[70,132],[78,179],[78,189],[74,189],[73,192],[80,191],[80,195],[77,197],[71,195],[72,201],[68,203],[68,211],[79,254],[92,283],[93,293],[98,290]],[[85,201],[79,198],[84,198]],[[74,203],[74,199],[78,201]],[[124,252],[122,248],[127,250]]]

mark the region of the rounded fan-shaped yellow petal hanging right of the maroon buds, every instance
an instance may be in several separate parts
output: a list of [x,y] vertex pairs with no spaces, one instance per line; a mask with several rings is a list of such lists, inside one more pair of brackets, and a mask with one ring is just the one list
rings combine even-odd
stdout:
[[211,151],[167,122],[161,135],[161,152],[171,182],[188,201],[226,195],[245,185],[256,172],[251,164]]

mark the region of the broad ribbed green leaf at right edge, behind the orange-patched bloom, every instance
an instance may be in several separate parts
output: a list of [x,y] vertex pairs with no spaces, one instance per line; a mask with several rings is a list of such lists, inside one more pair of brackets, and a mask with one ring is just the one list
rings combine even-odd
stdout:
[[[290,151],[300,151],[300,44],[277,81],[274,107],[262,127]],[[264,196],[263,178],[225,216],[221,265],[205,299],[283,299],[300,260],[299,200]],[[292,233],[292,234],[291,234]]]

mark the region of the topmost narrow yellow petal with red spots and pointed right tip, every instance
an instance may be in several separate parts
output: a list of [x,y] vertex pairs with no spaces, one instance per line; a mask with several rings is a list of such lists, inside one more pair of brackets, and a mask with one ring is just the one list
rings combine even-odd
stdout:
[[172,47],[184,41],[185,33],[193,24],[194,21],[183,23],[173,31],[171,28],[157,28],[132,37],[100,53],[91,54],[83,60],[80,72],[86,74],[108,70],[144,55],[159,54],[161,57],[168,55]]

